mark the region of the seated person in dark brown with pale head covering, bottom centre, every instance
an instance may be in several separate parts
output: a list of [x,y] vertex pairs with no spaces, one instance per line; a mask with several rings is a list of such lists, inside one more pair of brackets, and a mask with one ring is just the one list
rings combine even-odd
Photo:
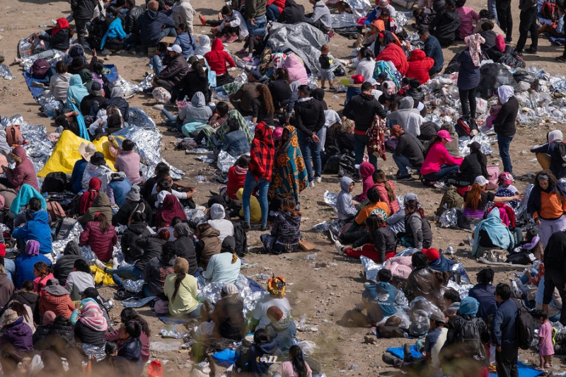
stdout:
[[238,297],[234,284],[224,284],[220,300],[214,308],[208,299],[202,305],[202,323],[197,327],[197,337],[212,336],[216,339],[242,340],[246,335],[246,320],[243,317],[243,301]]

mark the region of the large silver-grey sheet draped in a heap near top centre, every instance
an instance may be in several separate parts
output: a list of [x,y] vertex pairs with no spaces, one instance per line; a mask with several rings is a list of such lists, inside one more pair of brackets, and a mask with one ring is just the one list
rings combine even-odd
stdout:
[[[313,75],[320,74],[320,47],[328,43],[328,36],[317,28],[308,23],[273,23],[268,41],[273,51],[291,50],[311,69]],[[334,59],[330,69],[337,69],[338,66],[342,66],[342,63]]]

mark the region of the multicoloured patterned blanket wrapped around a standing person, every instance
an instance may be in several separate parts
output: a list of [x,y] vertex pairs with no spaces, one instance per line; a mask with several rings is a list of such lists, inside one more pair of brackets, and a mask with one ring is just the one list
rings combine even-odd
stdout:
[[308,186],[308,175],[295,127],[284,128],[289,130],[289,139],[275,151],[269,197],[292,197],[299,202],[299,193]]

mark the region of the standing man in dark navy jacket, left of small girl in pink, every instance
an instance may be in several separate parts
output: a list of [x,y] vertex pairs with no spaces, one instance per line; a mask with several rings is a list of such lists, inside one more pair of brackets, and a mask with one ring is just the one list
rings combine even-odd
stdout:
[[497,300],[499,306],[493,315],[491,330],[496,350],[497,376],[519,377],[517,369],[519,346],[517,345],[516,336],[518,308],[515,301],[511,299],[509,284],[497,284],[495,287],[495,300]]

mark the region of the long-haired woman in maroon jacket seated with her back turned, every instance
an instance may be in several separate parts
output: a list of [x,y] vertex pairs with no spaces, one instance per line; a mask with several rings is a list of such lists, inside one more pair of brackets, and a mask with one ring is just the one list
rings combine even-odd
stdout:
[[115,228],[108,221],[108,217],[102,213],[94,215],[93,221],[88,221],[79,236],[79,246],[91,246],[97,259],[104,263],[112,259],[112,251],[116,243],[118,243],[118,236]]

